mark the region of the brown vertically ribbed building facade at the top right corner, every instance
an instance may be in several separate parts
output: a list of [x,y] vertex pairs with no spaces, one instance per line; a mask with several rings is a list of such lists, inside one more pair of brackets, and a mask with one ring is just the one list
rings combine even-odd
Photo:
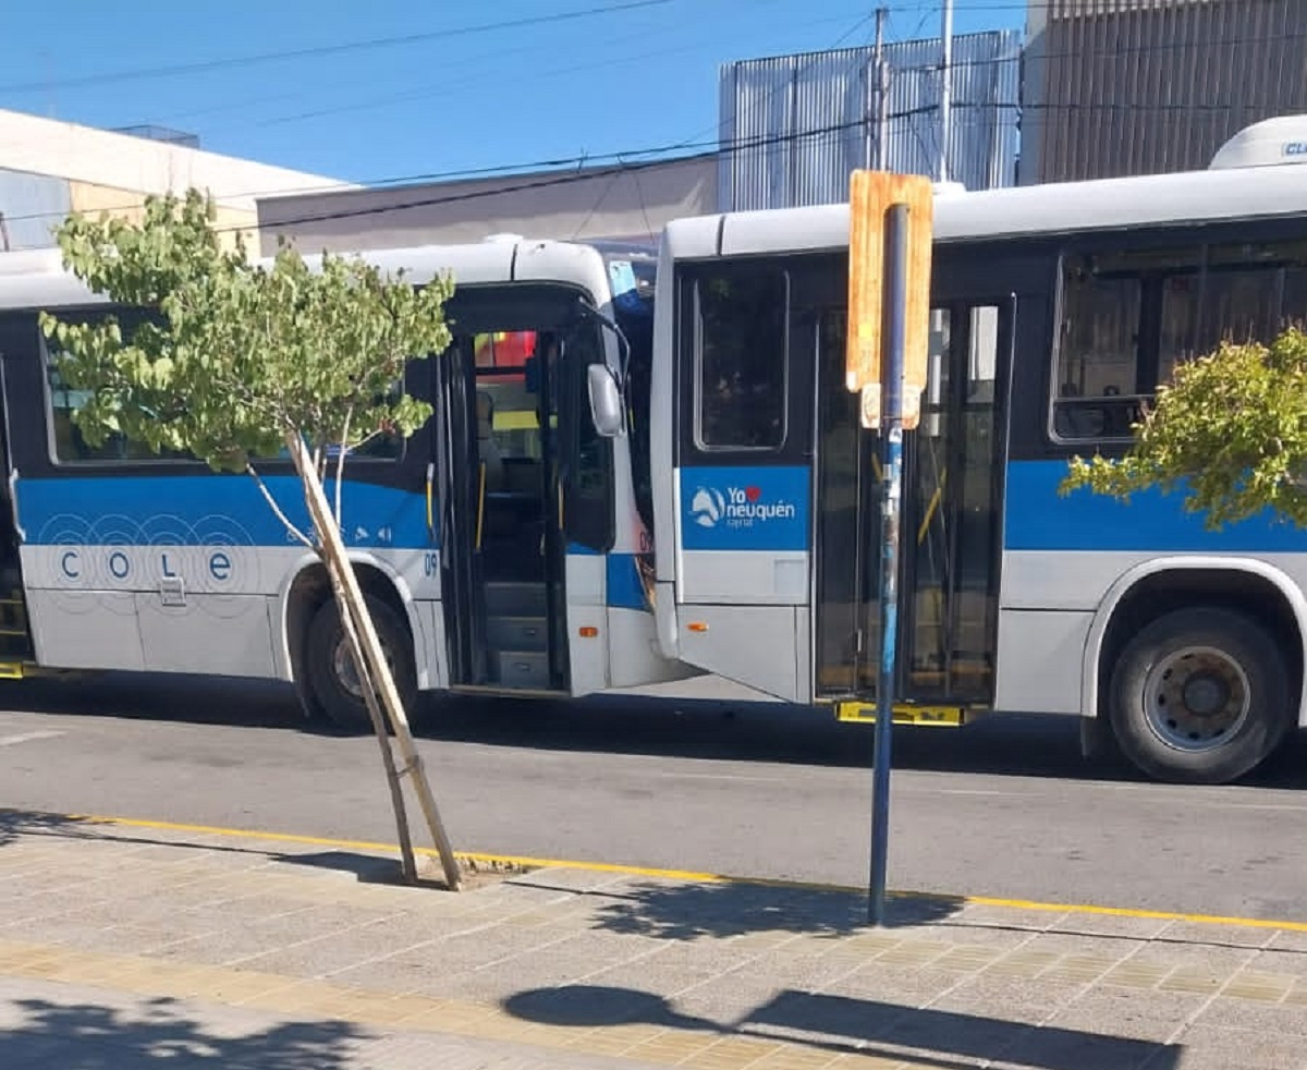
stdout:
[[1206,167],[1307,111],[1304,0],[1030,0],[1021,182]]

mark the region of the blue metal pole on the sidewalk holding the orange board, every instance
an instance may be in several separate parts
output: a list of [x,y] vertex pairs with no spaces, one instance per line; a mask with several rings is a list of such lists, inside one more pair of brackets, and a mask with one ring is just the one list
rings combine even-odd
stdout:
[[908,209],[895,204],[885,229],[885,353],[881,361],[881,671],[876,680],[876,755],[872,765],[872,882],[867,917],[885,922],[885,867],[890,835],[890,744],[898,661],[899,505],[903,483],[903,361],[907,311]]

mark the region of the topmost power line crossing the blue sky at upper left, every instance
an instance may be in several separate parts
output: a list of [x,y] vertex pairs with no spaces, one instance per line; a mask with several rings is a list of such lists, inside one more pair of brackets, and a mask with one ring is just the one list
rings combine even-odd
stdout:
[[656,8],[670,4],[672,0],[625,0],[621,4],[610,4],[599,8],[586,8],[574,12],[555,12],[553,14],[528,16],[525,18],[511,18],[501,22],[482,22],[474,26],[457,26],[452,30],[430,30],[420,34],[403,34],[400,37],[380,37],[370,41],[350,41],[340,44],[320,44],[311,48],[290,48],[280,52],[257,52],[248,56],[229,56],[225,59],[200,60],[197,63],[175,63],[163,67],[140,67],[129,71],[108,71],[101,75],[80,75],[71,78],[55,78],[39,82],[17,82],[0,85],[0,93],[38,93],[48,89],[71,89],[86,85],[107,85],[110,82],[140,81],[144,78],[166,78],[176,75],[197,75],[207,71],[225,71],[240,67],[255,67],[263,63],[281,63],[299,59],[316,59],[320,56],[339,56],[346,52],[359,52],[371,48],[392,48],[404,44],[420,44],[427,41],[444,41],[456,37],[472,37],[476,34],[495,33],[498,30],[516,30],[525,26],[541,26],[555,22],[570,22],[579,18],[592,18],[596,16],[617,14],[620,12],[635,10],[637,8]]

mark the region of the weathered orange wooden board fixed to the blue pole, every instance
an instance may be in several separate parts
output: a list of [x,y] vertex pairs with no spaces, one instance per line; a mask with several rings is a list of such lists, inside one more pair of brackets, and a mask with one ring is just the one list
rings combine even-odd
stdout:
[[907,307],[904,309],[903,426],[916,426],[925,390],[931,341],[931,243],[933,192],[924,175],[856,170],[848,199],[848,347],[846,385],[863,395],[863,425],[880,426],[885,348],[885,217],[908,209]]

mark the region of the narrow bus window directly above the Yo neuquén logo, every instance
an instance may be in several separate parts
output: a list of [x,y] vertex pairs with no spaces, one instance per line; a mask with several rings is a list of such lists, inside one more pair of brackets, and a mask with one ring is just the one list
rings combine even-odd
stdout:
[[786,441],[789,277],[742,266],[695,285],[701,450],[779,450]]

